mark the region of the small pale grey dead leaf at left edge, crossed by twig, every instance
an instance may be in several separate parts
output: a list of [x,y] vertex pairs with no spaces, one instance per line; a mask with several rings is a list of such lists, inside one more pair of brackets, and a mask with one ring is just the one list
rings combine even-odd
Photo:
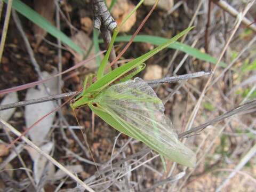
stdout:
[[[10,103],[15,103],[15,102],[18,102],[18,94],[17,92],[12,92],[5,96],[5,98],[2,100],[0,105],[6,105]],[[0,111],[0,117],[4,121],[8,121],[12,117],[12,114],[14,113],[15,109],[16,108],[11,108],[11,109]]]

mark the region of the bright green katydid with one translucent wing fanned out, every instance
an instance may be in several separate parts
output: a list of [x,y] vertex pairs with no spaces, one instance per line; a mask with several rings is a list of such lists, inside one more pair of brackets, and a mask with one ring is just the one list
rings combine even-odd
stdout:
[[[178,140],[170,119],[164,115],[163,103],[154,90],[138,77],[127,79],[145,68],[144,61],[191,29],[192,27],[183,30],[154,50],[102,77],[99,75],[102,70],[98,71],[97,76],[101,78],[89,87],[86,87],[85,80],[83,92],[71,103],[71,108],[87,105],[116,130],[142,141],[161,156],[182,165],[195,166],[196,155]],[[114,84],[122,77],[122,83]]]

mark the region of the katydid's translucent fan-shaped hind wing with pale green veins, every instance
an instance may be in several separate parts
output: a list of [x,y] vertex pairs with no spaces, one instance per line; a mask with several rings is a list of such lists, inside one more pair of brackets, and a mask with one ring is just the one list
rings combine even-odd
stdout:
[[95,102],[124,127],[125,134],[174,162],[195,166],[196,155],[178,140],[170,119],[164,115],[162,101],[142,79],[110,86]]

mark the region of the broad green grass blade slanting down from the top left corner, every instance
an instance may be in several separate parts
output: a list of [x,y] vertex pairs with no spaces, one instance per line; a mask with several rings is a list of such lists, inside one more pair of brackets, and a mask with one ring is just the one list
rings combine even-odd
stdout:
[[[7,3],[7,0],[4,0]],[[22,3],[20,0],[13,0],[12,4],[13,9],[17,10],[23,16],[25,16],[30,21],[34,22],[39,27],[43,28],[47,33],[51,34],[52,36],[59,38],[62,43],[65,43],[71,49],[76,51],[77,53],[83,55],[82,49],[76,45],[67,35],[62,33],[62,31],[58,30],[54,27],[49,21],[47,21],[44,17],[39,15],[36,11],[31,9],[26,4]]]

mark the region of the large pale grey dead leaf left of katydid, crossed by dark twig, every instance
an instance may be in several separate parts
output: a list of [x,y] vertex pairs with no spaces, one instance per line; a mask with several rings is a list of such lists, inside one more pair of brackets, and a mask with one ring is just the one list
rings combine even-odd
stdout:
[[[50,75],[47,72],[43,72],[42,75],[44,78],[49,77]],[[49,88],[51,94],[57,94],[58,90],[58,80],[57,78],[53,78],[50,81],[45,83],[46,87]],[[45,90],[44,85],[38,85],[38,89],[30,88],[27,91],[26,99],[36,99],[47,96],[47,92]],[[54,102],[43,102],[36,103],[34,105],[28,105],[25,107],[25,121],[26,126],[30,127],[37,121],[39,118],[43,117],[45,114],[50,113],[55,109]],[[31,129],[28,134],[31,140],[36,143],[36,145],[40,145],[46,138],[48,132],[51,129],[53,119],[55,117],[55,112],[51,113],[49,116],[45,117],[41,122]]]

